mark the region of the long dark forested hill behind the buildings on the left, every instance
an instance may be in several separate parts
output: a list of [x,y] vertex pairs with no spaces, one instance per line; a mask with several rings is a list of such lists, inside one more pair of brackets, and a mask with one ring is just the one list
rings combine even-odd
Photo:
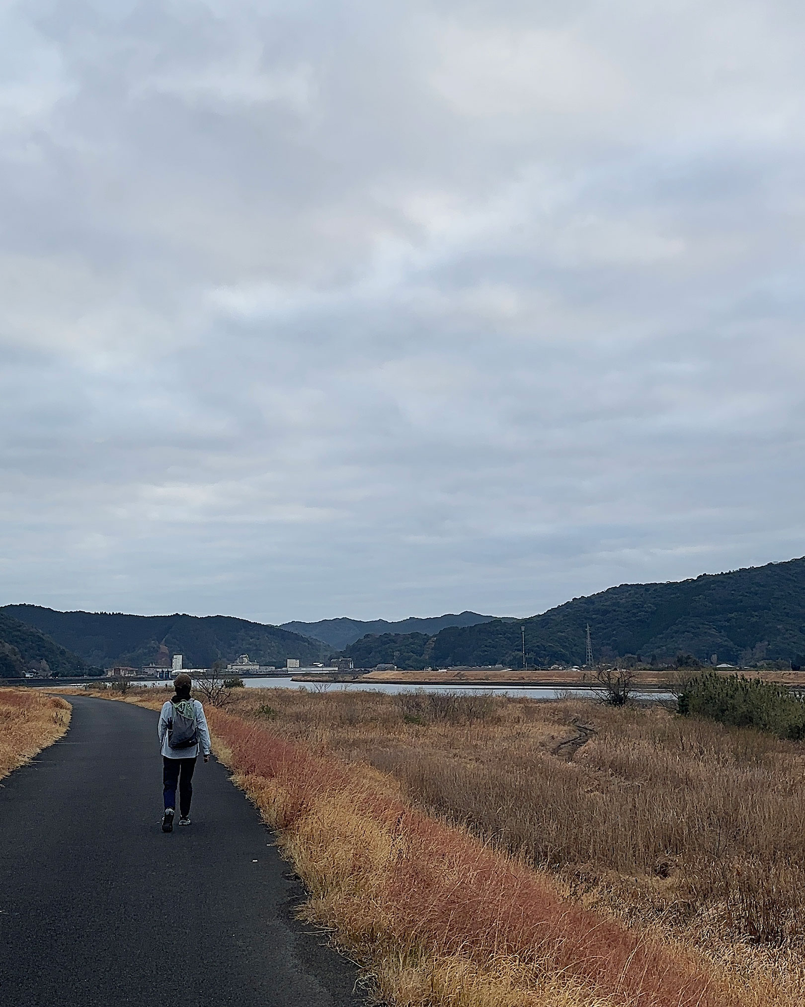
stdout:
[[6,605],[0,609],[47,633],[91,665],[142,668],[163,655],[181,654],[185,668],[209,668],[214,661],[233,661],[248,654],[262,665],[302,664],[322,660],[328,649],[317,640],[279,626],[249,622],[228,615],[125,615],[118,612],[59,612],[38,605]]

